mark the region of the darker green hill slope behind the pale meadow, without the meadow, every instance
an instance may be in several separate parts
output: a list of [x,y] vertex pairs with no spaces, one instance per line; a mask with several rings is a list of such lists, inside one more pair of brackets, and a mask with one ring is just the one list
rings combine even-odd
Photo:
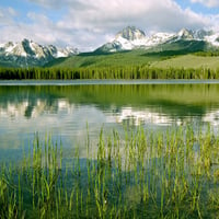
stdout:
[[[93,68],[93,67],[124,67],[124,66],[154,66],[164,60],[194,54],[197,51],[207,51],[209,45],[197,41],[177,41],[155,46],[151,49],[135,49],[117,53],[83,53],[70,58],[57,59],[46,65],[46,67],[57,68]],[[208,60],[207,60],[208,61]],[[205,59],[204,59],[205,62]],[[183,65],[183,62],[181,62]],[[180,65],[180,66],[181,66]],[[176,66],[177,67],[177,66]]]

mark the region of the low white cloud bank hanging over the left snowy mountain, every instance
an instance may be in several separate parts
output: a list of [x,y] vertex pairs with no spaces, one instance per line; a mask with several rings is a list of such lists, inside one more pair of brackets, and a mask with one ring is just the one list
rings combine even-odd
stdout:
[[[34,12],[30,12],[27,19],[30,23],[13,21],[10,25],[3,25],[0,32],[1,43],[21,42],[23,38],[28,38],[42,45],[72,46],[82,50],[94,49],[93,42],[96,41],[96,36],[93,33],[60,27],[46,15]],[[104,36],[100,36],[99,39],[104,42]]]

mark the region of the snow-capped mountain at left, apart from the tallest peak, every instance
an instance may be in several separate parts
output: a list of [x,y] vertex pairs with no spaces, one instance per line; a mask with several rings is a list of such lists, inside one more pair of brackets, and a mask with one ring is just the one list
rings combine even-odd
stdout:
[[16,67],[44,66],[56,58],[69,57],[78,53],[76,48],[42,46],[32,41],[23,39],[20,43],[0,44],[0,62]]

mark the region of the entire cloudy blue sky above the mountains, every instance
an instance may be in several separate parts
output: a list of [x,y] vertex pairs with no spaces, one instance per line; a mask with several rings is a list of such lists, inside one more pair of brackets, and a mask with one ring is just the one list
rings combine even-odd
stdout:
[[30,38],[92,50],[127,25],[147,34],[219,30],[219,0],[0,0],[0,43]]

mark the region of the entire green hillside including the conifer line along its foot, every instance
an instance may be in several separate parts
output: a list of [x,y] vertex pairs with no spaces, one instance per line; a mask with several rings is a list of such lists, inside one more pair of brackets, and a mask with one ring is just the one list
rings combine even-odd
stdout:
[[3,66],[0,79],[219,79],[219,50],[201,41],[177,41],[152,49],[83,53],[44,68]]

